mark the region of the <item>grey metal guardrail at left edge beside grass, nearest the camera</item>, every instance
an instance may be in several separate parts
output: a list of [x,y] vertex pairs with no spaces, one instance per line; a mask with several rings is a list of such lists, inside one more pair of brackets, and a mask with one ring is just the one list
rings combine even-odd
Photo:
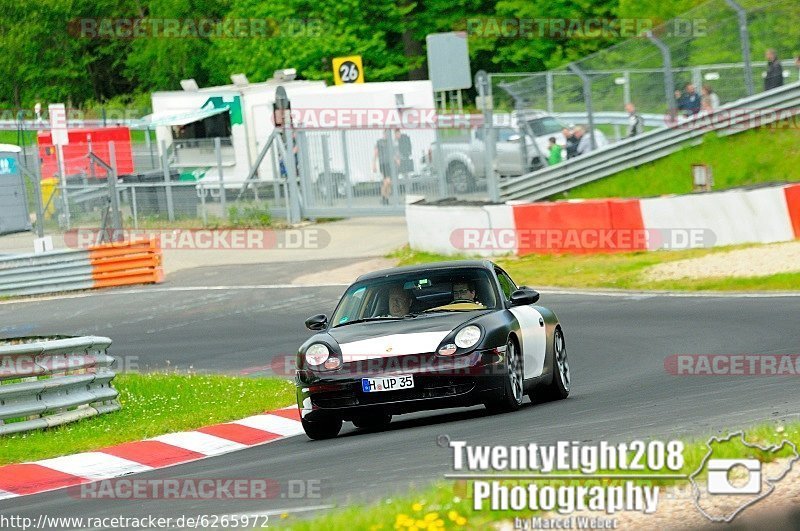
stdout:
[[107,337],[0,341],[0,435],[120,409]]

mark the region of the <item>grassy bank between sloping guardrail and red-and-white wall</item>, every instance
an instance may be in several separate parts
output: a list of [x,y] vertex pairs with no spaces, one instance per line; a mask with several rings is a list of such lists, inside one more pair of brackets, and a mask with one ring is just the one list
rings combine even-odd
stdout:
[[714,190],[775,181],[800,181],[800,130],[761,128],[729,137],[709,133],[690,147],[638,168],[579,186],[551,199],[650,197],[692,191],[692,164],[708,164]]

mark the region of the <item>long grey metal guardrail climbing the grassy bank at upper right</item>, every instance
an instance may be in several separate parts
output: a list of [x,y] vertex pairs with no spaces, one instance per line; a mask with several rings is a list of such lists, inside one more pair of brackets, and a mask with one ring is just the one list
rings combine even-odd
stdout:
[[500,183],[500,195],[504,200],[543,199],[666,157],[688,143],[702,142],[702,136],[711,131],[732,135],[793,118],[799,109],[800,83],[785,85],[723,105],[713,113],[626,138],[561,164],[508,179]]

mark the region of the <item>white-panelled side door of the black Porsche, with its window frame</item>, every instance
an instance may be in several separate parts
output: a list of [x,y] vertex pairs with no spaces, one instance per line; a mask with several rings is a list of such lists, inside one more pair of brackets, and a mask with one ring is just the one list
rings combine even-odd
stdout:
[[508,276],[508,273],[495,269],[500,289],[506,299],[508,311],[511,312],[519,323],[520,342],[522,343],[523,377],[536,378],[544,372],[545,353],[547,351],[547,328],[544,317],[532,305],[511,306],[511,293],[517,285]]

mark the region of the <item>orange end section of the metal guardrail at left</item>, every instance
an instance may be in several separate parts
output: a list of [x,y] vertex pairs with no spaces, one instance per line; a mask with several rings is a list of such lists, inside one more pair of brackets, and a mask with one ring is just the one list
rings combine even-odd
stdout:
[[89,247],[89,263],[95,288],[164,281],[157,239],[93,245]]

